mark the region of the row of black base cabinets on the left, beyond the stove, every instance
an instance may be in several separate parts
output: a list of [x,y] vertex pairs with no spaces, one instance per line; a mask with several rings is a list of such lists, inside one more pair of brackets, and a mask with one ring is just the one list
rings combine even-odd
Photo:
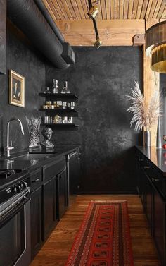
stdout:
[[32,259],[67,209],[68,189],[65,157],[31,173]]

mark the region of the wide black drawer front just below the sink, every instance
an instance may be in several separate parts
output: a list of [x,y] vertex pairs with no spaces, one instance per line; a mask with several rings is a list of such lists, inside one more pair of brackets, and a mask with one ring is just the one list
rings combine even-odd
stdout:
[[46,164],[43,167],[43,180],[48,181],[53,177],[56,177],[65,168],[65,157],[60,157],[60,159]]

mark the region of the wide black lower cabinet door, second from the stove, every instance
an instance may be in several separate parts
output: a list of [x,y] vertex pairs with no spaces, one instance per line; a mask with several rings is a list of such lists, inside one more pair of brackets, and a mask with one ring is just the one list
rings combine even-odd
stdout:
[[43,185],[43,215],[43,240],[46,240],[58,222],[56,216],[56,178]]

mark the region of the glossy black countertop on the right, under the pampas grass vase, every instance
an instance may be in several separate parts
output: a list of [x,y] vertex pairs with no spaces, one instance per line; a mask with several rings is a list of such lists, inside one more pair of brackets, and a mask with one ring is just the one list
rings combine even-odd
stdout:
[[136,146],[136,148],[162,171],[163,176],[166,176],[166,150],[142,146]]

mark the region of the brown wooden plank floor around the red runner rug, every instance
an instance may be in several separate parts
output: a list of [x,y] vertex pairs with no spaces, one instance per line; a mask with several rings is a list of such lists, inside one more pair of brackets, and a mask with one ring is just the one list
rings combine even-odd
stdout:
[[143,214],[141,200],[136,195],[77,196],[52,232],[30,266],[64,266],[72,242],[84,217],[90,200],[127,200],[134,266],[159,266],[160,262]]

